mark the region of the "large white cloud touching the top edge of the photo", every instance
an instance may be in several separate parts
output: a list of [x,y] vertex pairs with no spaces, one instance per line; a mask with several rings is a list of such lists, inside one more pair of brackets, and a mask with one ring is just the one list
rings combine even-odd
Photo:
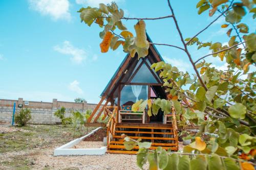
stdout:
[[71,19],[68,0],[29,0],[29,6],[42,15],[50,15],[53,20]]

